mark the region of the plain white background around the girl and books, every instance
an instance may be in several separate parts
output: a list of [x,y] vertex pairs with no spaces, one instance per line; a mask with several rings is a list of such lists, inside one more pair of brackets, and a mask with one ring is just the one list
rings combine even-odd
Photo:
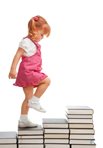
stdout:
[[103,1],[0,1],[0,131],[15,131],[24,99],[22,88],[8,79],[13,56],[32,16],[45,17],[51,36],[41,41],[43,71],[51,85],[42,96],[46,114],[30,110],[29,118],[65,117],[66,105],[94,109],[95,139],[102,148],[103,132]]

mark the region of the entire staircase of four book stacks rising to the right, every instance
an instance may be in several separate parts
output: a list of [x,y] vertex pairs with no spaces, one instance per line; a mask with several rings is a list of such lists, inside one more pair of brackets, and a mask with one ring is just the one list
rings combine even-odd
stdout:
[[67,106],[66,118],[43,118],[42,126],[0,132],[0,148],[96,148],[94,110]]

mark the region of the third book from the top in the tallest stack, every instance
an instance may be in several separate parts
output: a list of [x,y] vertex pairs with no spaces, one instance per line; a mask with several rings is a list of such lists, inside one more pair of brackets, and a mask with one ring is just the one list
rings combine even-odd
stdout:
[[68,123],[93,123],[93,119],[67,119]]

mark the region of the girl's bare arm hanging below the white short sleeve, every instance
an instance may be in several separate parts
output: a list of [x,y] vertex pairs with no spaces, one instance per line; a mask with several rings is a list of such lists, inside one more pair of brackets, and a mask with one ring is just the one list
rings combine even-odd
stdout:
[[8,76],[9,79],[16,78],[16,67],[17,67],[17,64],[24,52],[25,52],[24,49],[18,48],[18,50],[13,58],[12,64],[11,64],[11,69],[10,69],[9,76]]

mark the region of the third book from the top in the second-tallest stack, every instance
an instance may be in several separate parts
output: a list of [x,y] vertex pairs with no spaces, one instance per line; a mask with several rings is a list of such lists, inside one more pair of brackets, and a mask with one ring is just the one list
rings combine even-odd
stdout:
[[68,139],[69,134],[44,134],[44,138],[61,138],[61,139]]

